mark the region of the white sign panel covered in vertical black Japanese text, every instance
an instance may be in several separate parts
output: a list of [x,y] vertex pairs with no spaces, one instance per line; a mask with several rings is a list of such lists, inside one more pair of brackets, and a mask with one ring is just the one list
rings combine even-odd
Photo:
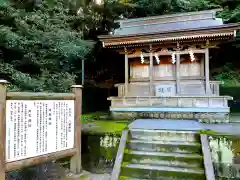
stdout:
[[74,147],[74,100],[7,100],[6,162]]

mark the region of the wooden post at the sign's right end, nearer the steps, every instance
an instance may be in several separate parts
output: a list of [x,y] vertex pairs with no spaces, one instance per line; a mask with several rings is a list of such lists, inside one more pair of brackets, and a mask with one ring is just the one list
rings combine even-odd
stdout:
[[75,94],[75,103],[74,103],[74,145],[76,148],[76,154],[71,158],[70,162],[70,171],[75,174],[81,172],[81,115],[82,115],[82,86],[73,85],[73,93]]

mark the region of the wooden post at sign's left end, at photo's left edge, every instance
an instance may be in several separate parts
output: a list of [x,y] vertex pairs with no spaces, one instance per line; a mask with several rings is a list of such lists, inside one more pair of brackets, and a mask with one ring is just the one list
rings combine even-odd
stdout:
[[7,81],[0,80],[0,180],[5,180],[6,162],[6,97],[7,97]]

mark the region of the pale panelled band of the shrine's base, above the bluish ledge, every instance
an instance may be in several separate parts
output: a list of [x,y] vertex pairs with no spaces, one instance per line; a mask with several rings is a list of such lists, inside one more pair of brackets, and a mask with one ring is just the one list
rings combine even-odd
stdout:
[[172,96],[172,97],[110,97],[112,108],[228,108],[227,96]]

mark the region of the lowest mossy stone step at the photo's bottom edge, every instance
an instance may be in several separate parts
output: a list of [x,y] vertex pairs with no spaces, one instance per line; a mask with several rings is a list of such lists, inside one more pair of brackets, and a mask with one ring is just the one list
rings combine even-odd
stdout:
[[[158,179],[159,177],[166,178],[196,178],[204,180],[203,169],[180,168],[169,166],[156,166],[149,164],[123,164],[121,167],[121,176],[130,176],[132,178]],[[166,178],[164,178],[166,177]]]

